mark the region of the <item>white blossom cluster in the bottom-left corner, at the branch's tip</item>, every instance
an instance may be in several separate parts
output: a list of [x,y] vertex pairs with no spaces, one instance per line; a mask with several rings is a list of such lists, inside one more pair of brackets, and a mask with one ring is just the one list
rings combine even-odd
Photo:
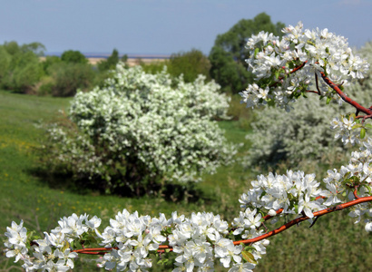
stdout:
[[[34,239],[30,243],[24,222],[6,228],[6,257],[15,257],[15,262],[22,260],[26,271],[68,271],[73,269],[73,258],[77,253],[72,251],[73,242],[82,240],[83,234],[92,234],[101,224],[101,219],[94,216],[76,214],[58,221],[59,227],[51,233],[44,232],[44,239]],[[30,256],[29,252],[33,255]]]

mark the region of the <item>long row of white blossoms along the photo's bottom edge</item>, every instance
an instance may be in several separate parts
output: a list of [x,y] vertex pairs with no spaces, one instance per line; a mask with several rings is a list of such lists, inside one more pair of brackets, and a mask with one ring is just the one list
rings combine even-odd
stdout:
[[[76,245],[88,237],[97,240],[108,252],[99,261],[98,266],[107,270],[147,271],[152,267],[150,253],[156,253],[160,245],[168,245],[176,254],[173,271],[212,271],[214,259],[220,259],[223,267],[230,271],[252,271],[257,260],[266,253],[268,240],[262,240],[254,248],[234,245],[228,238],[228,222],[211,213],[192,213],[191,218],[178,216],[177,212],[166,219],[130,214],[126,209],[110,219],[110,226],[103,233],[97,229],[101,219],[88,216],[61,219],[59,227],[50,234],[44,232],[44,239],[30,240],[23,222],[12,223],[7,228],[5,241],[6,257],[22,260],[26,271],[47,270],[67,271],[73,268],[73,258],[77,257]],[[89,234],[89,236],[87,236]],[[262,231],[252,228],[245,237],[258,237]],[[27,243],[31,242],[31,247]],[[32,257],[30,253],[33,253]],[[247,256],[249,259],[247,260]]]

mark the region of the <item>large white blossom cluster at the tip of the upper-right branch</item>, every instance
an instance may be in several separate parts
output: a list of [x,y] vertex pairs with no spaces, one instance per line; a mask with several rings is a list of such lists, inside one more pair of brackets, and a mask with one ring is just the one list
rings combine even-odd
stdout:
[[328,29],[303,30],[299,23],[284,28],[283,33],[280,39],[260,32],[247,43],[247,63],[256,77],[255,83],[240,92],[247,107],[269,103],[290,111],[289,103],[311,90],[309,87],[317,88],[315,92],[322,97],[334,95],[323,81],[314,83],[315,74],[325,73],[332,82],[346,85],[367,72],[367,60],[352,52],[345,37]]

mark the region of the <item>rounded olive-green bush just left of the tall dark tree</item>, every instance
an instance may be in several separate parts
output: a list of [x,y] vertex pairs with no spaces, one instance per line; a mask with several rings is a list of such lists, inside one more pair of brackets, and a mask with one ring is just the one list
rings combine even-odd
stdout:
[[204,74],[209,79],[210,61],[196,49],[185,53],[173,53],[168,63],[168,72],[174,77],[183,74],[185,83],[194,82],[198,74]]

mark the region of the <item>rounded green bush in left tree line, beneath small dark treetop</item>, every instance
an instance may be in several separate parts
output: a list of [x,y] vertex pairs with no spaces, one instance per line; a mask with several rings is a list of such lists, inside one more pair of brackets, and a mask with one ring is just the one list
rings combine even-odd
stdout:
[[54,96],[73,96],[77,89],[87,91],[94,79],[92,66],[84,63],[55,63],[50,67],[54,78]]

